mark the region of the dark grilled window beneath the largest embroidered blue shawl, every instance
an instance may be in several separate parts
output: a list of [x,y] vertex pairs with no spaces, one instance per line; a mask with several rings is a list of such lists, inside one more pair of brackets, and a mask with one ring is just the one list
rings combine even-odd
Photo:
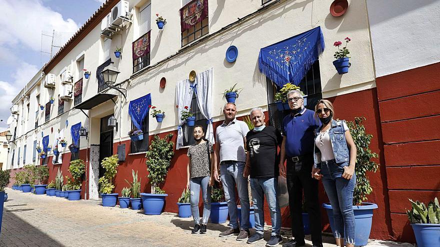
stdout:
[[[267,99],[268,99],[268,114],[269,114],[269,125],[274,126],[280,132],[282,132],[282,120],[288,114],[290,110],[278,111],[276,104],[273,103],[273,98],[278,88],[276,88],[275,83],[266,77],[267,81]],[[322,89],[321,89],[321,79],[319,73],[319,61],[316,60],[307,74],[302,78],[298,85],[301,91],[307,95],[307,104],[305,108],[313,110],[316,102],[322,99]]]

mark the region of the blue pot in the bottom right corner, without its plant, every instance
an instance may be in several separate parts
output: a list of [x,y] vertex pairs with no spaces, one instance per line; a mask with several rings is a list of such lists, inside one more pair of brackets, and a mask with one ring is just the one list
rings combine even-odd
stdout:
[[417,247],[440,246],[439,224],[411,224]]

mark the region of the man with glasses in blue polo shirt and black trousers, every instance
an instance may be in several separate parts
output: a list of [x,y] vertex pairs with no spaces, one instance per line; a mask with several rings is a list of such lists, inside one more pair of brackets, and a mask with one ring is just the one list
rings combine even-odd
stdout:
[[[318,181],[311,178],[313,167],[314,130],[319,126],[313,117],[314,112],[304,108],[304,99],[299,91],[289,91],[287,100],[291,113],[282,121],[280,173],[287,179],[290,219],[293,240],[288,247],[302,247],[304,229],[302,225],[302,192],[305,208],[310,218],[311,242],[313,247],[322,246],[321,217],[318,201]],[[287,161],[284,170],[284,161]]]

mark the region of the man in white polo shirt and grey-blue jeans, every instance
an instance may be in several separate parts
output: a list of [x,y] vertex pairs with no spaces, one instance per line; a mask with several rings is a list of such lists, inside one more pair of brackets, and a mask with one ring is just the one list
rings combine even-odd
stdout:
[[[246,154],[244,144],[249,131],[246,123],[235,119],[235,104],[227,103],[223,107],[224,122],[216,129],[214,165],[211,172],[212,180],[223,185],[224,198],[229,212],[229,229],[220,233],[220,237],[238,235],[237,240],[246,240],[249,236],[249,197],[247,178],[243,177]],[[220,177],[218,176],[218,163]],[[220,179],[221,178],[221,179]],[[238,228],[235,186],[241,205],[241,222]]]

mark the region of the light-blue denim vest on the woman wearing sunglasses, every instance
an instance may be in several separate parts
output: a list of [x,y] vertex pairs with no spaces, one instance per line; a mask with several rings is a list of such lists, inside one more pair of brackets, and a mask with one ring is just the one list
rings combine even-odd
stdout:
[[[328,135],[330,136],[331,147],[333,149],[333,155],[336,163],[344,163],[350,160],[350,155],[348,151],[347,141],[345,140],[345,131],[343,129],[342,123],[345,120],[331,120],[330,130],[328,131]],[[318,136],[320,130],[322,129],[322,125],[315,129],[314,131],[314,139]],[[318,159],[317,154],[320,154],[316,145],[313,146],[314,153],[314,167],[320,168],[321,161]]]

